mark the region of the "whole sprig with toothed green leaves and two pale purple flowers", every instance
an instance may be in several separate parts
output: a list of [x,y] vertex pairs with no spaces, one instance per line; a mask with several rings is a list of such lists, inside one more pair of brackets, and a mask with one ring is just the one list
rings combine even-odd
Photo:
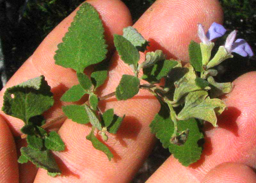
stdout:
[[[214,47],[212,40],[225,33],[226,29],[215,22],[206,33],[203,26],[198,24],[201,42],[190,42],[189,63],[183,66],[180,60],[167,59],[162,50],[147,52],[150,42],[135,28],[126,27],[123,35],[114,35],[114,44],[118,55],[130,66],[133,75],[124,74],[113,93],[98,96],[96,90],[108,76],[107,45],[98,12],[90,4],[84,3],[62,38],[63,42],[58,45],[54,59],[55,64],[74,69],[79,81],[60,100],[76,102],[84,95],[88,95],[89,99],[81,105],[62,106],[62,110],[72,121],[92,125],[86,139],[111,161],[113,154],[105,145],[108,143],[108,134],[117,133],[125,115],[117,116],[114,109],[101,111],[99,101],[109,97],[116,97],[119,101],[129,100],[139,90],[148,90],[161,104],[160,111],[149,125],[151,132],[181,164],[188,166],[195,163],[202,153],[202,143],[199,142],[204,138],[204,133],[201,127],[204,121],[218,126],[216,116],[226,109],[226,105],[217,97],[231,92],[233,87],[231,82],[218,83],[214,80],[218,74],[214,66],[232,58],[232,52],[243,57],[253,55],[245,40],[236,39],[236,30],[211,55]],[[144,61],[139,64],[140,52],[146,54]],[[88,66],[94,66],[90,75],[84,74]],[[140,77],[139,72],[143,73]],[[147,84],[140,84],[142,80],[147,81],[143,82]],[[42,114],[53,103],[51,87],[42,75],[7,88],[2,108],[6,114],[24,121],[20,130],[28,145],[20,149],[18,162],[31,161],[37,167],[46,169],[50,176],[61,174],[51,151],[65,150],[59,134],[45,130],[48,122],[45,123],[47,120]],[[100,136],[96,137],[95,133]]]

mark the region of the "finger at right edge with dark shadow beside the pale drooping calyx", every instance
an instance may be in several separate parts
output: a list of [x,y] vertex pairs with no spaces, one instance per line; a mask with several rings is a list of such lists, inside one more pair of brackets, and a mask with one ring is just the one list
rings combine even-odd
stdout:
[[164,175],[159,178],[160,182],[171,178],[178,181],[180,177],[201,181],[212,168],[227,161],[255,168],[255,77],[256,72],[249,72],[233,82],[233,91],[224,99],[228,110],[218,119],[219,127],[213,128],[209,124],[205,127],[204,150],[197,163],[183,167],[171,156],[148,182],[154,181],[159,175]]

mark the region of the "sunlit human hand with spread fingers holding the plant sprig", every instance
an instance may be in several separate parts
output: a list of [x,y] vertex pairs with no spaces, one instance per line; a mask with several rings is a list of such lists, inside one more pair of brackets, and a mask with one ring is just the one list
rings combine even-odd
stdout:
[[[129,11],[118,0],[88,2],[100,13],[111,51],[114,48],[112,35],[122,34],[124,27],[132,25]],[[0,93],[1,104],[6,88],[43,74],[52,87],[55,99],[54,106],[46,112],[45,117],[56,118],[62,114],[61,105],[64,103],[60,102],[60,96],[78,81],[76,72],[54,64],[53,55],[74,16],[75,12],[64,19],[9,80]],[[197,23],[208,28],[213,21],[222,21],[222,11],[217,1],[159,0],[134,27],[150,41],[150,49],[161,49],[167,57],[188,60],[189,42],[198,41]],[[108,87],[101,87],[99,93],[105,95],[113,92],[124,73],[131,71],[114,53]],[[247,167],[255,168],[256,162],[255,75],[256,72],[250,72],[234,81],[234,90],[224,99],[229,108],[218,120],[220,127],[205,126],[201,160],[184,167],[170,156],[148,182],[256,182],[254,172]],[[19,129],[23,122],[1,112],[0,182],[18,182],[19,179],[20,182],[33,182],[34,179],[35,182],[129,182],[154,145],[155,137],[148,125],[158,112],[159,103],[143,90],[132,100],[117,102],[108,99],[102,101],[100,106],[106,110],[114,108],[119,116],[126,114],[119,133],[109,135],[108,145],[114,159],[109,162],[104,153],[94,149],[91,142],[85,139],[90,132],[89,126],[67,119],[59,130],[67,148],[63,152],[55,152],[63,175],[55,178],[48,176],[44,169],[37,171],[32,164],[18,165],[14,138],[20,136]],[[16,141],[18,151],[22,144]]]

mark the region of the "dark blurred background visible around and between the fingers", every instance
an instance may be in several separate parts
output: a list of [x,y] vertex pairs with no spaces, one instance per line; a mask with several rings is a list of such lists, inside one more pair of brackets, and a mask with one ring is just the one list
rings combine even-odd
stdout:
[[[0,0],[0,88],[35,51],[44,37],[84,0]],[[135,22],[155,0],[123,0]],[[256,51],[256,0],[220,0],[224,10],[224,27],[238,30]],[[216,44],[223,44],[225,37]],[[217,69],[219,82],[233,81],[245,72],[256,70],[256,57],[224,61]],[[232,61],[232,63],[231,63]],[[224,73],[225,71],[225,73]],[[132,182],[145,182],[170,156],[158,141]]]

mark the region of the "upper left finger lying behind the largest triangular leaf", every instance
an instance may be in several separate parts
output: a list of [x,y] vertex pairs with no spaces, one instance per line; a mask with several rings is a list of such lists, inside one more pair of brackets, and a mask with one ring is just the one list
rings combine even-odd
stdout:
[[[105,28],[105,38],[109,45],[108,50],[113,49],[113,34],[122,34],[123,27],[132,24],[131,16],[124,4],[118,0],[102,0],[88,1],[99,12]],[[59,101],[61,95],[71,86],[78,83],[76,72],[72,69],[66,69],[54,64],[53,56],[57,45],[62,42],[61,39],[68,31],[73,17],[78,8],[72,12],[66,19],[64,19],[52,32],[44,39],[44,41],[36,49],[35,53],[20,67],[14,76],[8,81],[4,89],[0,93],[0,105],[3,105],[3,94],[6,88],[17,85],[28,79],[44,75],[48,84],[52,87],[55,103],[51,110],[45,114],[48,119],[60,116],[61,102]],[[118,22],[118,23],[117,23]],[[65,76],[65,77],[63,77]],[[9,124],[12,133],[20,135],[20,128],[24,123],[11,116],[1,114]]]

